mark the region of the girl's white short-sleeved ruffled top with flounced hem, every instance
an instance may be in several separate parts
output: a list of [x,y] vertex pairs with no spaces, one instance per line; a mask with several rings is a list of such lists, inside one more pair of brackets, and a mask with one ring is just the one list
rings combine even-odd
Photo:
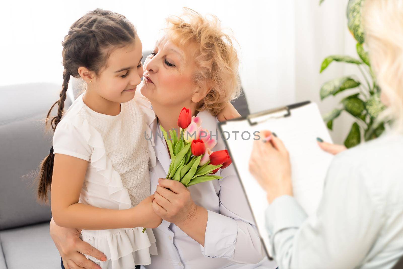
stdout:
[[[89,162],[80,203],[129,209],[150,195],[149,167],[156,158],[154,142],[145,137],[150,138],[154,119],[150,102],[141,98],[121,103],[119,115],[109,116],[92,111],[83,94],[77,97],[56,127],[53,148],[54,154]],[[82,230],[81,239],[103,252],[107,261],[85,256],[102,269],[148,265],[150,254],[157,255],[156,239],[152,229],[142,229]]]

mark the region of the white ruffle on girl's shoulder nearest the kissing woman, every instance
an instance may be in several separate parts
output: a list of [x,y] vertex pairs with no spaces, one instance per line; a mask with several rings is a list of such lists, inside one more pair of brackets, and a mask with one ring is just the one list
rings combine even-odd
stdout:
[[149,101],[139,97],[134,97],[133,99],[137,102],[141,112],[145,116],[145,132],[147,135],[148,156],[150,156],[148,164],[150,165],[150,167],[154,167],[156,165],[156,155],[153,148],[155,144],[154,139],[152,139],[152,130],[150,128],[150,125],[156,119],[156,115],[154,113],[154,110],[151,109],[151,103]]

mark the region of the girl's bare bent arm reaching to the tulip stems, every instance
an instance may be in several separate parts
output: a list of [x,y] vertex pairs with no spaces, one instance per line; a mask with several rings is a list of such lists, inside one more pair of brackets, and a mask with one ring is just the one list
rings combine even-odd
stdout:
[[55,154],[51,188],[52,216],[58,226],[88,230],[155,228],[162,219],[152,209],[150,196],[131,209],[103,209],[79,203],[88,161]]

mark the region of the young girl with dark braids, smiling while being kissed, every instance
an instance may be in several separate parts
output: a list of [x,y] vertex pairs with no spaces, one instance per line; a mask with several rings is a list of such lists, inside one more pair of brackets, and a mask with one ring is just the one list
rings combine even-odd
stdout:
[[[155,114],[149,102],[134,96],[143,76],[141,41],[124,16],[96,9],[73,23],[62,45],[64,81],[47,116],[48,121],[58,104],[38,197],[47,200],[52,186],[54,222],[83,229],[81,239],[107,257],[87,259],[102,268],[148,265],[150,254],[157,254],[156,240],[152,229],[141,231],[162,219],[149,196],[155,153],[144,138]],[[62,118],[70,76],[81,77],[86,90]],[[232,115],[228,108],[225,113]]]

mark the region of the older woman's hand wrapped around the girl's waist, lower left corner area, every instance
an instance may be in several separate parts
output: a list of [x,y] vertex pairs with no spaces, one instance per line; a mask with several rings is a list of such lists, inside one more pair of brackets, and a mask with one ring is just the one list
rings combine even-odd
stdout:
[[49,233],[66,269],[101,269],[83,254],[106,261],[106,256],[102,252],[80,239],[80,232],[77,229],[60,227],[51,219]]

